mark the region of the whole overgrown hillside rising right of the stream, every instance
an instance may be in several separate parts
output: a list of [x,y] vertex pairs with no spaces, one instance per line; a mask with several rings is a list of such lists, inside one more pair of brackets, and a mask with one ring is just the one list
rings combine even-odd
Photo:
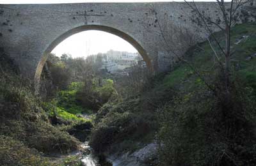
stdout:
[[[225,44],[222,32],[215,35]],[[159,142],[158,155],[141,161],[146,165],[255,165],[256,24],[232,28],[232,51],[230,107],[205,85],[220,86],[220,68],[205,41],[186,53],[193,68],[180,62],[141,95],[104,105],[91,146],[120,155]]]

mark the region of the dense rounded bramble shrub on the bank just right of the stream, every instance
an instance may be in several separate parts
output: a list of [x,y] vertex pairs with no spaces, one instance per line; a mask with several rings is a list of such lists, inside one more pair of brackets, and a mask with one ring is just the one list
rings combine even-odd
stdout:
[[133,150],[127,149],[123,142],[143,141],[145,137],[152,139],[150,133],[156,131],[157,122],[154,114],[140,107],[143,103],[138,99],[127,100],[111,105],[107,103],[98,112],[90,137],[90,145],[97,153],[113,151],[113,153]]

